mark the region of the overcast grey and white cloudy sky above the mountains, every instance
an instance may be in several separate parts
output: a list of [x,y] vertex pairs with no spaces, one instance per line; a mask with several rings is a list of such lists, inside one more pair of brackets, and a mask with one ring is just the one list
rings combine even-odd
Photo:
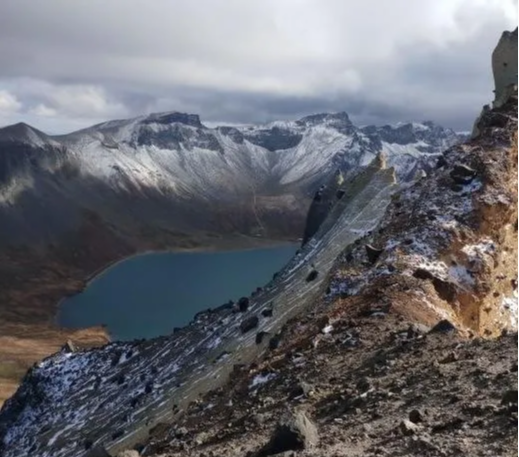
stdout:
[[347,111],[470,128],[518,0],[0,0],[0,126]]

